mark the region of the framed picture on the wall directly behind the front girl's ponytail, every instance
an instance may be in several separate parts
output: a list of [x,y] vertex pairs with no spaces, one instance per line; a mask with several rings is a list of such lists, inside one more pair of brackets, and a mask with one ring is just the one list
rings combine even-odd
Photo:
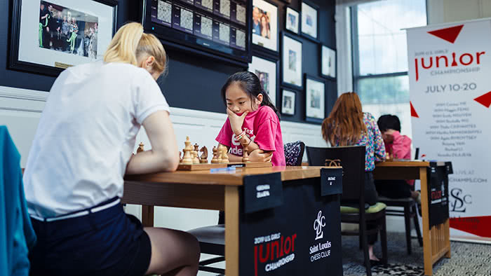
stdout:
[[249,64],[249,71],[256,74],[261,82],[261,87],[267,93],[271,102],[276,104],[276,94],[278,92],[278,61],[267,60],[262,57],[253,56],[253,62]]

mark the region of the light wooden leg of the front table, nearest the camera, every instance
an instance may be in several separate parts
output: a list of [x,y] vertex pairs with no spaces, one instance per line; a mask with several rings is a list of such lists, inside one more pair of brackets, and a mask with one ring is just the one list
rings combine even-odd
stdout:
[[238,186],[225,186],[225,275],[238,276]]

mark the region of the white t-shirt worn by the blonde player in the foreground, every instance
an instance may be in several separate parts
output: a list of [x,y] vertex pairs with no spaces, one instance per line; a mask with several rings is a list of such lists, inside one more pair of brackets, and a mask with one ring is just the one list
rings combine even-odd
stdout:
[[123,196],[123,176],[145,118],[169,106],[131,64],[93,62],[56,79],[24,174],[29,214],[52,217]]

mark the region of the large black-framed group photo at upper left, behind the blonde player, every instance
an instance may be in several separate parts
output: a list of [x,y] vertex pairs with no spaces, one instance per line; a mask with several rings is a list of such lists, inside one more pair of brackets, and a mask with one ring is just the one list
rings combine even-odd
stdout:
[[113,0],[13,0],[9,68],[58,76],[100,60],[116,31]]

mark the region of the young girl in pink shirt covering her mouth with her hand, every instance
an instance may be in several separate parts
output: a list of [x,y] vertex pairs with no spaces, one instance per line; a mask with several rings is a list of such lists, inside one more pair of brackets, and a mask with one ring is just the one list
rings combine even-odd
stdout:
[[243,71],[229,76],[222,87],[228,118],[216,140],[227,146],[231,162],[241,162],[243,151],[249,160],[270,161],[285,166],[278,109],[262,89],[259,78]]

